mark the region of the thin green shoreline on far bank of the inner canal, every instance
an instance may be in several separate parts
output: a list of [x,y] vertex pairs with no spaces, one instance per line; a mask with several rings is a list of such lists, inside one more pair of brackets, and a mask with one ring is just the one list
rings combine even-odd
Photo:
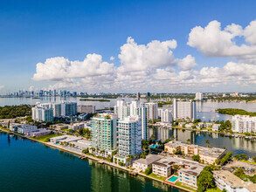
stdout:
[[[250,135],[250,136],[246,136],[245,134],[228,134],[228,133],[219,133],[219,132],[214,132],[214,131],[209,131],[209,130],[200,130],[200,129],[193,129],[193,128],[184,128],[184,127],[168,127],[168,126],[161,126],[161,125],[155,125],[155,124],[149,124],[149,126],[151,127],[166,127],[166,128],[176,128],[176,129],[180,129],[180,130],[189,130],[189,131],[195,131],[195,132],[203,132],[203,133],[211,133],[211,134],[222,134],[225,136],[229,136],[229,137],[244,137],[246,139],[246,137],[252,137],[252,139],[256,140],[256,136],[254,135]],[[232,136],[234,135],[234,136]]]

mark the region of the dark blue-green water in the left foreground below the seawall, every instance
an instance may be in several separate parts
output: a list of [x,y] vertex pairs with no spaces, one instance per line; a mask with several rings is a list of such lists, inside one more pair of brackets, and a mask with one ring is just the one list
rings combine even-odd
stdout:
[[1,192],[171,191],[161,182],[0,133]]

